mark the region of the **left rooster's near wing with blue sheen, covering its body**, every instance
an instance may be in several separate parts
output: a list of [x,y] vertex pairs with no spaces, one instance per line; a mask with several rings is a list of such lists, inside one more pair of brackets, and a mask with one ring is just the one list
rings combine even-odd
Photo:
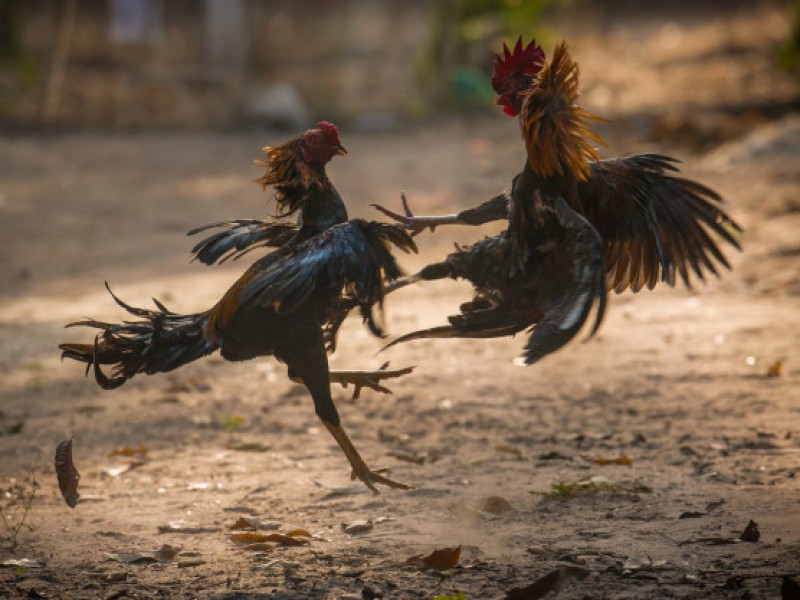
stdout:
[[239,304],[270,306],[288,315],[319,293],[330,313],[341,304],[345,291],[379,333],[372,307],[383,300],[384,280],[402,275],[390,252],[392,245],[406,252],[417,249],[411,237],[394,225],[360,219],[336,225],[280,257],[270,255],[255,263],[239,289]]

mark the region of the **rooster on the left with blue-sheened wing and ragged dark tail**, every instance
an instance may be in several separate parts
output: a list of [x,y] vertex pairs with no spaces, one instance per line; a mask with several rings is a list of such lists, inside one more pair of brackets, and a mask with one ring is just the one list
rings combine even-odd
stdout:
[[[389,248],[408,252],[416,247],[398,226],[347,221],[344,203],[325,175],[328,161],[343,152],[335,127],[310,130],[278,149],[267,150],[262,182],[276,187],[289,210],[301,211],[302,224],[293,241],[284,240],[256,261],[204,312],[181,315],[158,301],[157,310],[135,308],[112,294],[137,320],[72,323],[100,333],[93,344],[61,344],[63,356],[86,363],[87,370],[93,367],[105,389],[138,373],[171,371],[217,350],[231,361],[274,356],[309,390],[317,415],[349,460],[354,477],[374,492],[376,484],[408,489],[371,470],[342,428],[330,392],[331,375],[336,377],[328,370],[326,340],[330,345],[335,338],[343,302],[358,306],[369,328],[380,334],[373,308],[382,303],[385,281],[401,275]],[[205,244],[209,256],[236,252],[235,244],[217,242]],[[113,365],[111,376],[101,365]],[[345,372],[339,381],[374,387],[381,378],[408,371],[378,371],[366,380],[363,372]]]

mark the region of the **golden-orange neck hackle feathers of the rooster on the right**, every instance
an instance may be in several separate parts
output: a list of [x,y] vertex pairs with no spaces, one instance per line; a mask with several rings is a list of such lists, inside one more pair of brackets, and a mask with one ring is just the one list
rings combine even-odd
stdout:
[[578,65],[566,43],[556,46],[553,60],[523,94],[520,125],[531,170],[543,178],[586,179],[588,161],[599,159],[591,142],[604,144],[588,122],[601,119],[578,105]]

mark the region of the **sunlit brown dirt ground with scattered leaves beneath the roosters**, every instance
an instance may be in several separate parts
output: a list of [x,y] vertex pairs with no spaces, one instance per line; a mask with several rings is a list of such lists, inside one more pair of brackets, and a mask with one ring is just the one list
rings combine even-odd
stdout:
[[[88,338],[65,323],[123,317],[104,280],[136,305],[217,299],[243,261],[189,264],[183,233],[265,214],[252,159],[285,133],[2,139],[0,596],[473,600],[573,567],[563,573],[585,577],[565,575],[559,597],[780,597],[782,577],[800,573],[800,117],[795,83],[772,62],[786,27],[764,6],[623,22],[603,38],[564,26],[587,106],[614,118],[598,127],[603,154],[681,157],[730,203],[744,252],[693,290],[613,297],[596,338],[530,368],[513,364],[520,337],[376,355],[381,341],[348,321],[334,368],[417,367],[392,396],[335,390],[367,461],[408,492],[354,485],[306,392],[271,359],[212,357],[114,392],[59,360],[60,341]],[[342,136],[350,155],[330,174],[353,216],[376,218],[368,204],[396,204],[401,189],[420,212],[471,206],[523,160],[501,116]],[[491,231],[426,233],[401,260],[413,271]],[[468,293],[402,290],[390,332],[441,323]],[[69,436],[75,509],[52,468]],[[140,445],[145,455],[110,456]],[[14,535],[23,516],[32,529]],[[230,539],[240,517],[313,537],[248,551]],[[750,520],[760,540],[738,541]],[[165,544],[180,553],[154,562]],[[450,570],[407,563],[457,546]],[[22,559],[34,562],[10,562]]]

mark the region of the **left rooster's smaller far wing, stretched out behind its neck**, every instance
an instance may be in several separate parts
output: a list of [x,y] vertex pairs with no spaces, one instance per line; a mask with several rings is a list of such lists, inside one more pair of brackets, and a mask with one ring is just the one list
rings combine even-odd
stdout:
[[260,221],[258,219],[234,219],[204,225],[192,229],[186,235],[208,231],[215,227],[221,228],[192,248],[192,260],[199,260],[206,265],[219,264],[226,260],[241,258],[251,250],[263,247],[280,247],[288,243],[299,230],[294,223],[273,221]]

